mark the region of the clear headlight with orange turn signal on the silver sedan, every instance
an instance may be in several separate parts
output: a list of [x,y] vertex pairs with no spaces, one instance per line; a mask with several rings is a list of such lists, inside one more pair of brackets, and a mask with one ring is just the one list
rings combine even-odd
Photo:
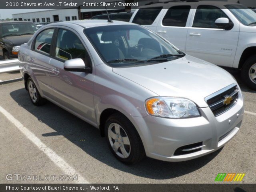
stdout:
[[164,118],[198,117],[200,113],[194,102],[178,97],[154,97],[146,100],[150,115]]

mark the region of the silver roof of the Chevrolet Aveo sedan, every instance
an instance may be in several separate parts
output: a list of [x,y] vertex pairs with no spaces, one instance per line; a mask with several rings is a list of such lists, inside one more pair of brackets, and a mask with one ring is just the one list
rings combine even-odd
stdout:
[[84,28],[91,28],[91,27],[98,27],[98,26],[112,26],[112,25],[137,25],[129,22],[124,21],[116,21],[108,22],[107,20],[74,20],[74,21],[62,21],[62,22],[56,22],[51,23],[46,26],[52,26],[52,25],[62,25],[62,26],[69,26],[70,24],[76,24],[79,26],[82,26]]

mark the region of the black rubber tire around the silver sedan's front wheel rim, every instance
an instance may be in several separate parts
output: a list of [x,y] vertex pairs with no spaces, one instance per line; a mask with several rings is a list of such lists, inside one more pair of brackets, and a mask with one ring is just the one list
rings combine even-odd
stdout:
[[[120,156],[118,156],[110,144],[110,140],[108,138],[108,127],[112,123],[119,124],[124,129],[124,131],[126,132],[130,140],[130,154],[127,158],[121,158]],[[114,154],[114,156],[118,160],[120,160],[124,164],[135,164],[141,161],[146,156],[142,141],[140,139],[140,136],[137,130],[135,129],[133,124],[130,122],[130,120],[128,120],[128,118],[126,118],[124,115],[120,113],[115,113],[115,114],[112,114],[106,120],[105,135],[106,135],[106,140],[108,142],[108,146],[111,152]]]

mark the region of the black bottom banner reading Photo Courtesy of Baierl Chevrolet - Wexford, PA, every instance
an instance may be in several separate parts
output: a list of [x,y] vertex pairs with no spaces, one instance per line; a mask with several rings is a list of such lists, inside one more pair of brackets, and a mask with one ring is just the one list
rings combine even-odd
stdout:
[[256,184],[0,184],[0,192],[255,192]]

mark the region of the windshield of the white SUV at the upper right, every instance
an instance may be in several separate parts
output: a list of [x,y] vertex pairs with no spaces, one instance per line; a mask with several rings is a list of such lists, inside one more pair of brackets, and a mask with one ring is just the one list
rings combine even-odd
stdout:
[[246,26],[256,26],[256,13],[243,5],[226,5],[226,8]]

